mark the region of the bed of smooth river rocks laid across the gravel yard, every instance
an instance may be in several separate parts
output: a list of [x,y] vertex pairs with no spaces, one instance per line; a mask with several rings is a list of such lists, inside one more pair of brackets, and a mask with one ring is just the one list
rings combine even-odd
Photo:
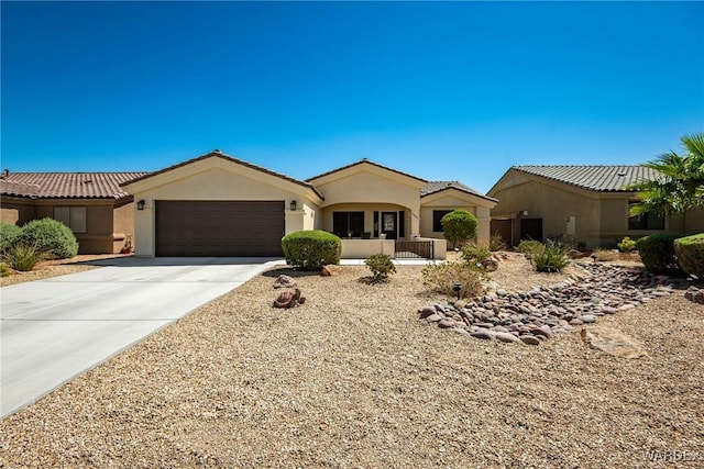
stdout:
[[476,299],[432,304],[420,320],[480,339],[538,345],[598,317],[672,294],[678,279],[609,264],[575,264],[578,272],[522,292],[496,289]]

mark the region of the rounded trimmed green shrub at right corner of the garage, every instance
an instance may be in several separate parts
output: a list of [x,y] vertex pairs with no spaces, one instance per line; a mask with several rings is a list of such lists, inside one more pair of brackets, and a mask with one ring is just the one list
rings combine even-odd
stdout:
[[289,233],[282,238],[286,264],[299,270],[318,270],[327,264],[339,264],[342,242],[322,230]]

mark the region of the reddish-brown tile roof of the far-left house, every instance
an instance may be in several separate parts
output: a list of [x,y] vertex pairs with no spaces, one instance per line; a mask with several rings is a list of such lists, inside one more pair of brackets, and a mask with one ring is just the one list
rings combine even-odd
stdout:
[[10,172],[0,176],[0,194],[42,199],[121,199],[121,183],[147,172]]

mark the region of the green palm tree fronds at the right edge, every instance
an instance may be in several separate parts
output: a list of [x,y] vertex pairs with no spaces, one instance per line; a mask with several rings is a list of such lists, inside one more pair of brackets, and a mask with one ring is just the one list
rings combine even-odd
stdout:
[[704,206],[704,133],[685,135],[681,141],[686,155],[668,152],[642,165],[659,171],[660,177],[628,187],[638,191],[640,200],[631,206],[631,215],[682,213]]

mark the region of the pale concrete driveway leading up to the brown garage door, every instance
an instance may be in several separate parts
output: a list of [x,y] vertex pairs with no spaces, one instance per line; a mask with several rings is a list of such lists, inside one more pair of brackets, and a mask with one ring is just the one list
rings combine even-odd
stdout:
[[128,257],[0,289],[1,417],[271,269],[271,258]]

